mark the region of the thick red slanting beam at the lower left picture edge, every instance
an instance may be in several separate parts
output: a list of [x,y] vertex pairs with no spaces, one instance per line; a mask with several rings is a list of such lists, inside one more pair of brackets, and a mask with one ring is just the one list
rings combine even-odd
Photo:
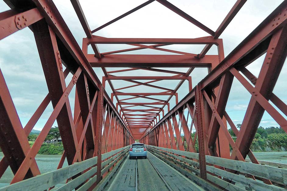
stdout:
[[[5,160],[1,160],[1,174],[5,172],[9,164],[15,175],[27,157],[30,149],[27,135],[22,127],[17,111],[10,96],[5,79],[0,70],[0,146],[4,153]],[[29,155],[30,157],[30,155]],[[4,159],[4,158],[3,158]],[[22,172],[23,178],[31,178],[39,175],[40,171],[35,159],[32,157],[30,166],[26,172]]]

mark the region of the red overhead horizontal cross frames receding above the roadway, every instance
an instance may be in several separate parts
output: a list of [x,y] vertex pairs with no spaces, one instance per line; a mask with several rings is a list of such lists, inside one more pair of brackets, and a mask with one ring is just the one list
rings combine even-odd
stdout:
[[[161,2],[162,3],[162,2]],[[165,4],[164,4],[165,5]],[[166,6],[166,5],[165,5]],[[167,6],[169,8],[169,6]],[[81,16],[79,16],[80,18]],[[191,21],[192,22],[192,21]],[[124,49],[113,52],[104,52],[102,53],[102,57],[98,58],[93,54],[88,54],[88,45],[95,44],[128,44],[137,46],[138,48],[132,49]],[[142,45],[142,44],[156,44],[156,45]],[[171,44],[207,44],[207,45],[217,45],[218,47],[218,55],[206,55],[203,58],[198,58],[197,54],[188,53],[188,52],[179,52],[169,49],[159,48],[160,46],[171,45]],[[164,52],[173,52],[181,55],[134,55],[134,54],[115,54],[119,52],[129,52],[139,49],[155,49]],[[108,81],[110,87],[112,88],[113,93],[111,94],[112,100],[113,97],[117,99],[117,106],[120,106],[120,112],[123,112],[123,116],[127,121],[128,126],[135,125],[137,122],[132,121],[128,116],[134,117],[133,120],[147,120],[142,117],[151,117],[154,115],[154,121],[160,119],[160,113],[164,114],[164,107],[167,106],[169,110],[169,101],[175,96],[175,101],[178,103],[177,90],[181,87],[185,80],[188,81],[189,91],[192,90],[192,79],[189,76],[194,68],[196,67],[206,67],[210,68],[211,66],[215,66],[219,63],[220,54],[223,55],[223,45],[222,39],[215,39],[212,36],[202,37],[202,38],[193,38],[193,39],[164,39],[164,38],[104,38],[100,36],[93,35],[92,38],[83,38],[83,52],[88,58],[92,67],[102,67],[102,70],[105,76],[102,78],[102,84],[105,87],[105,81]],[[220,53],[221,52],[221,53]],[[104,67],[132,67],[129,69],[122,70],[112,70],[107,72]],[[177,72],[172,70],[162,70],[152,67],[188,67],[187,72]],[[120,73],[127,72],[133,70],[150,70],[162,73],[171,73],[177,74],[174,76],[114,76],[112,73]],[[135,85],[130,85],[122,88],[115,89],[113,87],[113,80],[123,80],[127,82],[132,82]],[[147,82],[140,82],[138,80],[151,80]],[[151,83],[162,81],[162,80],[180,80],[178,85],[174,89],[168,89],[165,87],[152,85]],[[137,86],[148,86],[152,88],[165,90],[165,92],[160,93],[128,93],[122,92],[128,88],[133,88]],[[121,90],[121,92],[119,92]],[[156,99],[151,96],[162,95],[169,97],[166,100]],[[132,96],[129,98],[119,99],[118,96]],[[155,100],[157,102],[123,102],[125,100],[131,100],[136,98],[144,98],[149,100]],[[124,105],[128,105],[123,107]],[[153,107],[153,105],[162,105],[160,107]],[[141,114],[136,114],[135,112],[139,112],[138,109],[133,109],[135,106],[142,106]],[[129,110],[124,110],[124,108],[129,107]],[[151,107],[154,109],[159,109],[157,112],[152,112],[152,114],[148,111],[143,111],[146,107]],[[127,113],[128,112],[128,113]],[[158,117],[158,118],[157,118]],[[138,125],[145,125],[145,128],[148,129],[152,127],[154,124],[153,121],[146,121],[146,123],[138,123]],[[138,126],[140,128],[140,126]],[[142,127],[141,127],[142,128]],[[132,133],[137,133],[135,128],[132,129]],[[140,136],[135,137],[135,139],[139,139]]]

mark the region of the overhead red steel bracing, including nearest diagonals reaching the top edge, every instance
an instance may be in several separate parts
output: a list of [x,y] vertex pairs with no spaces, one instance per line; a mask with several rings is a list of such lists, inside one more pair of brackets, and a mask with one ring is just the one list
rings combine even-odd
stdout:
[[[190,76],[191,72],[196,67],[206,67],[211,69],[211,67],[216,66],[220,59],[224,57],[223,53],[223,44],[222,39],[218,39],[218,36],[222,33],[240,7],[244,4],[243,1],[240,1],[240,5],[235,5],[236,10],[231,10],[231,15],[227,16],[227,20],[224,20],[223,24],[219,27],[218,31],[213,32],[208,27],[195,20],[182,10],[178,9],[176,6],[171,4],[168,1],[159,0],[158,2],[162,5],[166,6],[168,9],[174,11],[184,19],[189,22],[195,24],[197,27],[201,28],[203,31],[211,34],[211,36],[194,38],[194,39],[174,39],[174,38],[105,38],[97,35],[93,35],[92,33],[99,31],[100,29],[108,26],[109,24],[116,22],[117,20],[127,16],[134,11],[144,7],[152,3],[153,1],[147,1],[142,5],[139,5],[135,9],[117,17],[116,19],[98,27],[95,30],[90,31],[88,23],[85,20],[84,13],[81,11],[81,6],[78,1],[72,1],[74,9],[81,21],[81,24],[84,28],[85,33],[87,34],[87,38],[83,39],[83,52],[88,58],[92,67],[102,67],[102,70],[105,76],[102,78],[102,84],[105,86],[105,82],[108,81],[111,89],[112,89],[112,100],[115,96],[117,103],[116,105],[120,107],[120,113],[124,117],[124,120],[127,126],[131,129],[132,134],[135,139],[139,139],[144,132],[149,130],[159,119],[160,114],[162,112],[162,116],[164,115],[164,108],[167,106],[167,111],[170,108],[170,100],[173,96],[175,96],[175,102],[178,103],[178,94],[177,90],[181,87],[184,81],[188,81],[189,91],[192,89],[192,78]],[[84,22],[83,22],[84,20]],[[97,44],[127,44],[136,46],[136,48],[131,49],[123,49],[112,52],[104,52],[94,54],[88,54],[88,45],[96,46]],[[143,45],[145,44],[145,45]],[[152,45],[146,45],[152,44]],[[189,52],[181,52],[170,49],[160,48],[166,45],[173,44],[205,44],[207,47],[200,54],[194,54]],[[216,45],[218,47],[218,55],[205,55],[208,49],[212,45]],[[93,48],[94,49],[94,48]],[[130,52],[141,49],[154,49],[163,52],[172,52],[177,53],[177,55],[133,55],[133,54],[116,54],[123,52]],[[94,49],[95,50],[95,49]],[[128,69],[121,70],[111,70],[107,71],[106,67],[129,67]],[[187,67],[188,70],[186,72],[177,72],[172,70],[164,70],[153,67]],[[159,73],[166,74],[176,74],[174,76],[114,76],[113,74],[121,72],[130,71],[130,73],[135,73],[135,70],[149,70],[155,71]],[[132,82],[134,85],[129,85],[121,88],[114,88],[112,84],[112,80],[123,80],[127,82]],[[141,82],[139,80],[149,80],[146,82]],[[153,85],[151,83],[159,82],[162,80],[180,80],[180,82],[176,85],[174,89],[165,88],[159,85]],[[128,88],[133,88],[137,86],[148,86],[155,88],[154,93],[146,93],[146,92],[123,92]],[[158,92],[159,90],[164,90],[163,92]],[[156,99],[151,96],[169,96],[167,99]],[[131,96],[124,99],[119,99],[119,96]],[[130,102],[126,100],[136,100],[137,98],[143,98],[154,100],[154,102]],[[127,105],[127,106],[125,106]],[[156,105],[156,106],[155,106]]]

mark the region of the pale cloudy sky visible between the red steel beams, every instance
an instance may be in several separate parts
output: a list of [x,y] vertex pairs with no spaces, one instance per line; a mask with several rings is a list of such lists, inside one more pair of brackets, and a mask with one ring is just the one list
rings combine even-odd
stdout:
[[[187,1],[187,0],[169,0],[178,8],[182,9],[199,22],[203,23],[213,31],[216,31],[224,17],[227,15],[235,0],[225,1]],[[121,14],[133,9],[145,1],[133,0],[81,0],[81,6],[87,18],[91,30],[101,26],[102,24],[120,16]],[[226,30],[221,34],[223,39],[224,54],[227,56],[246,36],[252,32],[282,1],[280,0],[248,0],[235,18],[228,25]],[[86,37],[77,18],[77,15],[69,0],[54,0],[59,12],[62,14],[70,31],[74,35],[80,47],[82,46],[82,38]],[[0,1],[0,12],[9,10],[9,7]],[[158,2],[152,2],[144,8],[132,13],[131,15],[105,27],[104,29],[94,33],[95,35],[110,38],[198,38],[209,36],[206,32],[181,18],[174,12],[170,11]],[[126,49],[130,45],[98,45],[100,52],[109,52],[118,49]],[[204,45],[169,45],[164,48],[173,50],[200,53]],[[92,50],[88,50],[92,53]],[[128,54],[163,54],[162,51],[156,50],[140,50],[129,52]],[[166,53],[164,53],[166,54]],[[170,54],[170,53],[167,53]],[[217,48],[213,45],[207,54],[217,54]],[[258,77],[261,65],[265,55],[261,56],[247,69]],[[24,28],[0,41],[0,69],[5,77],[5,81],[9,88],[9,92],[13,99],[14,105],[20,117],[23,127],[26,125],[30,117],[34,114],[41,101],[48,93],[43,69],[39,59],[34,35],[29,28]],[[163,68],[167,69],[168,68]],[[279,76],[273,93],[287,102],[287,92],[285,82],[287,80],[287,64]],[[103,73],[100,68],[94,68],[95,73],[102,79]],[[113,68],[107,68],[108,71]],[[176,71],[186,72],[187,68],[174,69]],[[131,75],[135,73],[123,73],[121,75]],[[196,68],[192,73],[193,87],[207,74],[206,68]],[[170,75],[159,72],[151,72],[141,70],[136,75],[155,76]],[[66,78],[66,84],[71,80],[72,75]],[[174,80],[154,83],[154,85],[174,88],[178,81]],[[107,83],[106,83],[107,84]],[[114,87],[123,87],[131,83],[123,81],[113,81]],[[185,82],[178,90],[179,100],[188,93],[188,85]],[[106,91],[110,95],[111,89],[107,85]],[[142,87],[127,90],[127,92],[143,92]],[[154,92],[154,89],[146,88],[144,92]],[[72,111],[74,110],[75,88],[69,95]],[[158,98],[156,96],[153,96]],[[235,124],[242,123],[244,118],[250,94],[247,90],[234,78],[231,93],[226,106],[226,111]],[[125,98],[125,97],[120,97]],[[164,97],[165,98],[165,97]],[[143,101],[136,99],[136,102]],[[175,105],[175,100],[171,99],[171,108]],[[52,105],[50,104],[35,125],[34,129],[41,130],[46,123],[48,117],[52,113]],[[167,111],[165,111],[167,113]],[[190,123],[191,121],[189,121]],[[56,122],[54,123],[57,126]],[[260,126],[278,126],[272,117],[265,112],[260,122]]]

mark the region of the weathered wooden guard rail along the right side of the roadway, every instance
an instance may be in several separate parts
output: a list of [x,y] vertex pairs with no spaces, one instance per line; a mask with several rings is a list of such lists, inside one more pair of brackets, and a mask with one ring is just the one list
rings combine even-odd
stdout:
[[[156,157],[159,157],[177,170],[181,171],[182,174],[188,176],[197,184],[200,184],[207,190],[217,190],[217,188],[215,188],[213,185],[208,182],[205,182],[203,179],[197,176],[200,174],[199,162],[197,162],[199,160],[198,153],[167,149],[151,145],[148,145],[147,148],[150,152],[156,155]],[[248,175],[254,175],[260,178],[269,179],[271,182],[276,183],[276,185],[286,187],[287,169],[253,164],[239,160],[213,157],[208,155],[206,155],[206,163],[210,164],[206,165],[206,171],[209,172],[207,174],[207,180],[221,186],[224,189],[255,189],[262,191],[286,190],[285,188],[281,188],[279,186],[268,185],[262,181],[246,177],[248,177]],[[240,173],[234,174],[225,171],[225,169],[235,170]],[[221,179],[220,177],[222,177],[223,179]],[[244,189],[244,187],[246,189]]]

